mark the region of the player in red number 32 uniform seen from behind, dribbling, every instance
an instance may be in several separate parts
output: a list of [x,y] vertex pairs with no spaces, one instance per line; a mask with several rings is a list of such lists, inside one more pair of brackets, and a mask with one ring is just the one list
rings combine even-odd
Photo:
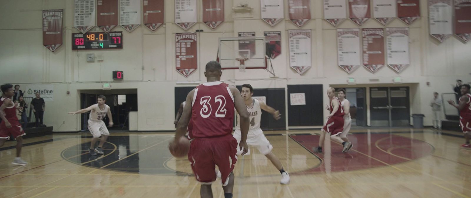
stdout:
[[240,116],[241,141],[239,148],[247,153],[247,133],[249,114],[240,91],[233,86],[220,82],[221,65],[217,61],[206,64],[207,83],[197,86],[187,95],[183,113],[177,123],[175,139],[171,149],[177,149],[179,139],[187,132],[188,122],[193,122],[191,136],[194,138],[188,152],[188,160],[196,180],[202,183],[202,198],[212,198],[211,183],[216,180],[214,169],[217,165],[221,172],[222,188],[225,198],[232,198],[234,170],[237,161],[237,140],[232,137],[234,107]]

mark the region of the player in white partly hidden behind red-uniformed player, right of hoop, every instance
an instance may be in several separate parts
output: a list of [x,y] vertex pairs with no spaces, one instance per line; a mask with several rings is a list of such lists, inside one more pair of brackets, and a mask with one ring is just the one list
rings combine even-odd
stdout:
[[[347,135],[349,134],[350,128],[352,126],[352,119],[350,117],[350,102],[348,99],[345,99],[345,90],[344,89],[339,89],[337,90],[338,95],[339,95],[339,100],[341,103],[341,106],[343,107],[343,131],[341,133],[337,133],[332,135],[330,138],[340,144],[343,145],[343,150],[342,152],[348,152],[350,148],[352,147],[352,143],[349,141],[347,138]],[[330,107],[329,107],[330,108]]]

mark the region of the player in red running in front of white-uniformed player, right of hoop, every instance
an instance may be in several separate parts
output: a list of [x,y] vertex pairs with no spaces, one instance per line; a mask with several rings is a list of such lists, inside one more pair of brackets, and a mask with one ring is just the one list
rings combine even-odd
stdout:
[[335,97],[335,89],[329,87],[327,89],[327,96],[330,99],[330,114],[327,116],[327,122],[325,122],[324,128],[322,128],[319,145],[313,148],[313,152],[317,153],[322,152],[326,132],[331,134],[331,136],[337,136],[343,131],[344,112],[339,98]]

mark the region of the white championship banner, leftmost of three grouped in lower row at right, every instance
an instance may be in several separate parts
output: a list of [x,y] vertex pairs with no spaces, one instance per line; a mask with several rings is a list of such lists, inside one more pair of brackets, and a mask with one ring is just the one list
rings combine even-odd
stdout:
[[360,29],[337,29],[338,65],[351,74],[360,67]]

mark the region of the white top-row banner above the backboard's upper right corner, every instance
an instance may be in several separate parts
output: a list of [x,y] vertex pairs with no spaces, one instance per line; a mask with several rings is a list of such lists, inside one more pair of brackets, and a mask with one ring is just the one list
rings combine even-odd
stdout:
[[263,21],[272,27],[284,19],[283,0],[260,0],[260,9]]

